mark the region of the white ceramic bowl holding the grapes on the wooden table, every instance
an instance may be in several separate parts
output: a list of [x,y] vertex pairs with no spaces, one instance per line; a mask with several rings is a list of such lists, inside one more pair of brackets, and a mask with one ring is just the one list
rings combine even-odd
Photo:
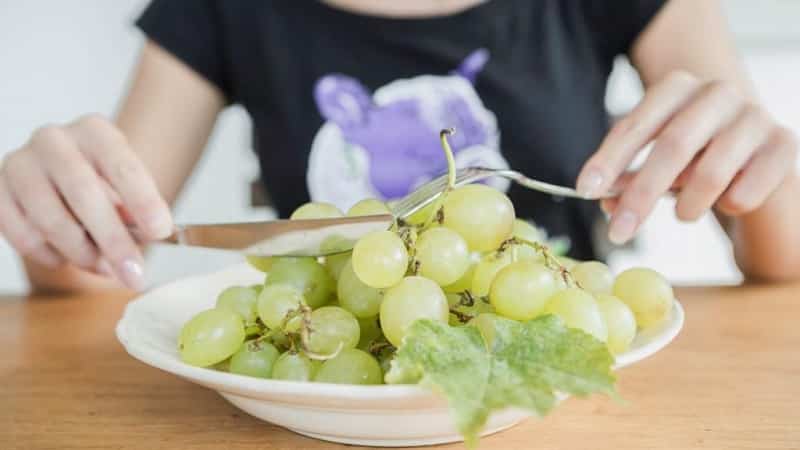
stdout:
[[[195,313],[214,306],[217,294],[263,274],[239,265],[154,289],[128,304],[117,338],[133,357],[220,393],[243,411],[297,433],[345,444],[416,446],[461,441],[444,400],[412,385],[350,386],[265,380],[193,367],[180,360],[177,337]],[[678,302],[671,319],[639,335],[616,367],[640,361],[666,346],[683,325]],[[483,435],[509,428],[530,413],[517,409],[490,417]]]

